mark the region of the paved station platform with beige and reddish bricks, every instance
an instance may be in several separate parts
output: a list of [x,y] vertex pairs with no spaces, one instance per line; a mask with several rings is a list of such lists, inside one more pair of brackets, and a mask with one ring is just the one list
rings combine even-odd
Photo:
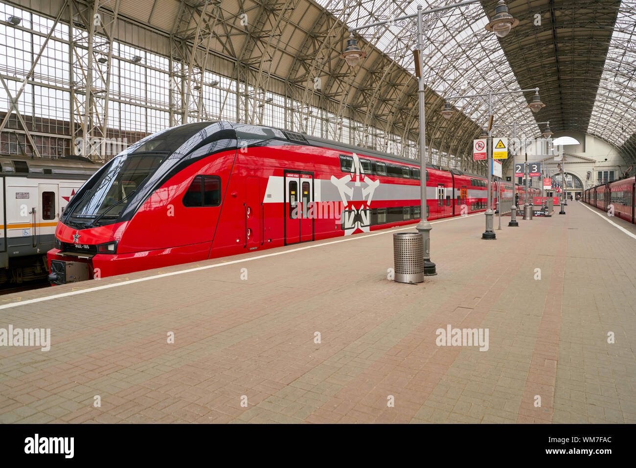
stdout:
[[636,228],[566,212],[434,221],[417,285],[410,226],[3,296],[0,422],[635,423]]

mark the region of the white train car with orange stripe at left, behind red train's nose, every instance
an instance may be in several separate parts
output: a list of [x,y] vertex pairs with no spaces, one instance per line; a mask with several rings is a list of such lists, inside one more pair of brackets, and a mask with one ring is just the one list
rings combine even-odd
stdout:
[[86,158],[0,155],[0,286],[45,279],[60,214],[101,167]]

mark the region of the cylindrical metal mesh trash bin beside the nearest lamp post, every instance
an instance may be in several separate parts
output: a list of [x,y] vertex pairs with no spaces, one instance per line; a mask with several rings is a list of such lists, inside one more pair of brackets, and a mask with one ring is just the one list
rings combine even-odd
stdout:
[[421,233],[394,233],[393,265],[396,282],[414,284],[424,281],[424,245]]

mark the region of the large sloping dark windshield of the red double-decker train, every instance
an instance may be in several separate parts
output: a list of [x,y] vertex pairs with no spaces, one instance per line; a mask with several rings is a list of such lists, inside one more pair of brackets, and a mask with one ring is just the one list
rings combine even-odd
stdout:
[[128,153],[114,158],[111,167],[81,196],[68,214],[79,223],[114,223],[130,196],[155,172],[167,154]]

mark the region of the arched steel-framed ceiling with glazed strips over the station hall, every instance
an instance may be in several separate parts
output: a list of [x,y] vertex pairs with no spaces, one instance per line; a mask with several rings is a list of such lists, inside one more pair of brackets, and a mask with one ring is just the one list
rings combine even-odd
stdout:
[[[415,22],[360,31],[359,45],[368,56],[355,68],[339,57],[347,29],[413,13],[417,3],[429,8],[457,2],[72,1],[106,11],[117,4],[117,40],[214,69],[247,89],[282,93],[301,109],[322,107],[337,118],[356,120],[367,134],[411,141],[418,139]],[[13,3],[52,17],[62,5],[60,0]],[[553,130],[588,132],[636,161],[636,0],[510,0],[520,24],[501,39],[484,30],[496,4],[484,0],[425,18],[429,145],[466,157],[485,124],[486,107],[478,99],[453,100],[459,112],[441,118],[445,97],[538,86],[544,109],[530,113],[532,93],[506,95],[496,103],[495,125],[550,120]],[[321,78],[320,88],[314,88],[315,77]],[[540,132],[538,125],[524,130],[527,137]]]

